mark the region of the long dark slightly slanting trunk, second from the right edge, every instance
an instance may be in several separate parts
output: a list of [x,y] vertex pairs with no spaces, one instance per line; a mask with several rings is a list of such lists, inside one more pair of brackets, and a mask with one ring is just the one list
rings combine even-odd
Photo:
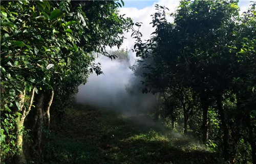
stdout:
[[227,123],[226,123],[224,109],[222,106],[222,95],[217,95],[216,100],[217,100],[218,111],[219,111],[219,115],[220,115],[220,119],[221,119],[221,125],[222,125],[222,129],[223,129],[224,158],[226,161],[228,161],[230,159],[230,153],[228,150],[229,133],[228,133],[228,127],[227,127]]

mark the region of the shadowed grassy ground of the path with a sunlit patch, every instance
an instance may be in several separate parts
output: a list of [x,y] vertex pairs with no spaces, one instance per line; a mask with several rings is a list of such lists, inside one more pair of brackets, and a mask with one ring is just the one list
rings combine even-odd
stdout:
[[45,163],[219,163],[216,154],[147,116],[76,106],[51,132]]

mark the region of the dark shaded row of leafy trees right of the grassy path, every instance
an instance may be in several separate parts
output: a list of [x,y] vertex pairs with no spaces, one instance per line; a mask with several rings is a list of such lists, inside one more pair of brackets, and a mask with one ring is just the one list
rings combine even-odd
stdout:
[[182,1],[170,23],[156,5],[151,39],[132,34],[143,91],[162,99],[156,118],[192,130],[229,162],[256,162],[255,6],[239,15],[237,1]]

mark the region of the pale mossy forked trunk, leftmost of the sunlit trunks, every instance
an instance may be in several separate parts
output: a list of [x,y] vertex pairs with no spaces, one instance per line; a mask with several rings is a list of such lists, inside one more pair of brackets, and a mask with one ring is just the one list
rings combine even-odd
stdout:
[[[16,133],[16,144],[18,147],[18,151],[16,154],[16,163],[18,163],[18,164],[27,163],[25,155],[24,155],[24,150],[23,150],[23,127],[24,127],[24,120],[28,116],[28,114],[31,110],[31,106],[33,104],[34,93],[35,93],[35,87],[33,88],[32,93],[31,93],[29,106],[26,109],[26,107],[24,107],[26,91],[24,90],[24,95],[20,96],[20,101],[19,101],[20,108],[15,113],[15,115],[17,116],[15,118],[15,129],[16,129],[15,133]],[[21,115],[18,116],[18,113]]]

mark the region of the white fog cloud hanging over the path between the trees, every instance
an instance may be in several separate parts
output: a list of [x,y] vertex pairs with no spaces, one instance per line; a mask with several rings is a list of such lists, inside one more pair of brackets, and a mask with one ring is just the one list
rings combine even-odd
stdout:
[[[78,103],[87,104],[100,108],[110,108],[122,112],[125,115],[135,114],[138,111],[148,111],[154,108],[155,98],[152,94],[143,94],[138,88],[127,87],[131,84],[141,86],[138,77],[129,68],[135,62],[132,53],[129,53],[130,61],[120,62],[107,57],[100,57],[96,62],[101,63],[101,70],[104,74],[93,73],[86,85],[79,87],[76,95]],[[137,83],[137,84],[135,84]]]

